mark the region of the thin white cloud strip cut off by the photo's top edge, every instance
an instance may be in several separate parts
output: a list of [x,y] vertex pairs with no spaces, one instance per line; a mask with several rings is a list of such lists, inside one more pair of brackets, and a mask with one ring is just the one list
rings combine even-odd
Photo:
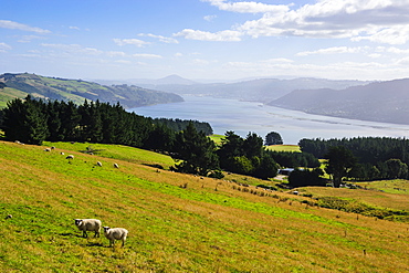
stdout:
[[289,10],[287,6],[283,4],[266,4],[260,2],[226,2],[226,0],[202,0],[210,2],[211,6],[218,7],[220,10],[232,11],[239,13],[281,13]]

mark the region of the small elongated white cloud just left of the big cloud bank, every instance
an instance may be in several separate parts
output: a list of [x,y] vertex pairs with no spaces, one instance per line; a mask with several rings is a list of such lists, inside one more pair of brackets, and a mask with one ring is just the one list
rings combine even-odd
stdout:
[[241,41],[242,33],[233,30],[224,30],[216,33],[185,29],[178,33],[174,34],[175,36],[185,36],[188,40],[198,40],[198,41],[218,41],[218,42],[238,42]]

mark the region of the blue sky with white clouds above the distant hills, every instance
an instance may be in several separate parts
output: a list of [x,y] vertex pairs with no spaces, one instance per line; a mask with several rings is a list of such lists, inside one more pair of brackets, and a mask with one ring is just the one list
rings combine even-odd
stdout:
[[409,76],[409,0],[0,0],[0,73]]

